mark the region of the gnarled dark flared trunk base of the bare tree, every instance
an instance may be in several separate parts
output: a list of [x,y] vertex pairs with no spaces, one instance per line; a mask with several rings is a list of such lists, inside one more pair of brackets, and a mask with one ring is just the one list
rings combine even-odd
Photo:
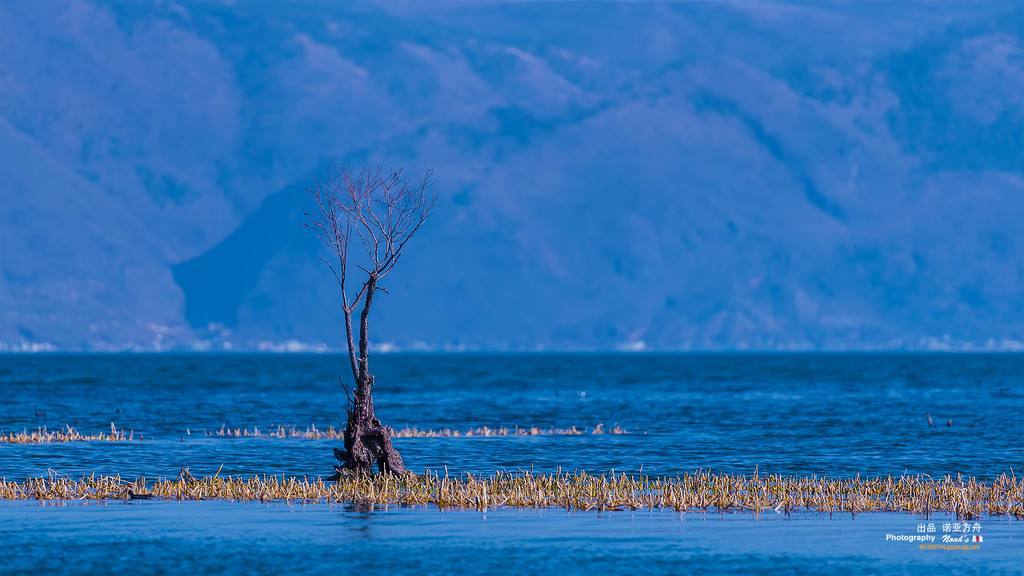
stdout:
[[381,424],[374,414],[374,377],[367,373],[362,385],[357,386],[352,407],[348,411],[345,427],[345,450],[334,449],[334,455],[341,462],[334,467],[330,480],[340,480],[342,476],[372,474],[374,465],[381,474],[407,474],[406,464],[398,451],[391,445],[391,428]]

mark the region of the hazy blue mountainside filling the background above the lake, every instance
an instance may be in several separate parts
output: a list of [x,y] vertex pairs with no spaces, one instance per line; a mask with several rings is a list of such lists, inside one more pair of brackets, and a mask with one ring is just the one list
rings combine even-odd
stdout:
[[1024,341],[1017,2],[0,4],[0,349],[340,343],[325,162],[436,168],[392,349]]

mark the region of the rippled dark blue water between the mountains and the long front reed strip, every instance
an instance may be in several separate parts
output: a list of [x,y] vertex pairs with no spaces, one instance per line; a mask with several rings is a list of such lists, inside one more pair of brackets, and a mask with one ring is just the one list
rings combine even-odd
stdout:
[[[373,368],[378,413],[393,427],[617,423],[631,433],[397,440],[414,469],[1024,470],[1020,356],[382,355]],[[334,356],[0,357],[0,429],[99,431],[113,421],[143,438],[0,446],[0,474],[153,477],[221,464],[228,474],[326,474],[335,442],[203,430],[340,424],[342,369]]]

